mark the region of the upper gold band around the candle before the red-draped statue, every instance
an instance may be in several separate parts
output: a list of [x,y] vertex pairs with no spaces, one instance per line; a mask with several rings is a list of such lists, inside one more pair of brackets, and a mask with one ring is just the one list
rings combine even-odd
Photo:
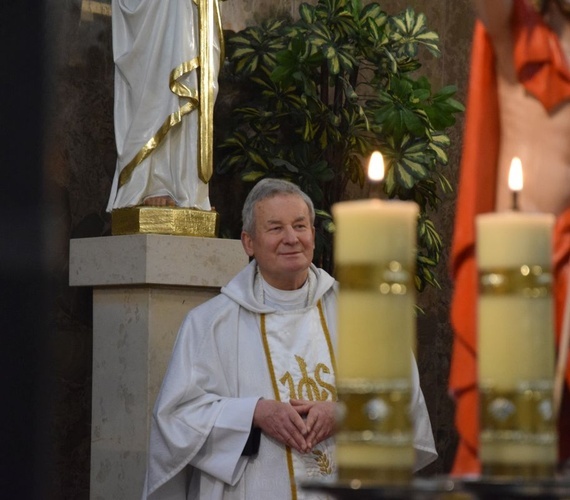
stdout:
[[479,271],[480,295],[519,295],[529,299],[552,294],[552,273],[539,265]]

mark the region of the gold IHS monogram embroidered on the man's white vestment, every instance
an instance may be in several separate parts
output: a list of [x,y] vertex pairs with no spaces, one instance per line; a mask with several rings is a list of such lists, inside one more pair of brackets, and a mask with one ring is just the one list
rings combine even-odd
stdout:
[[331,369],[324,363],[318,363],[315,367],[314,378],[309,375],[307,363],[301,356],[295,356],[295,360],[301,371],[301,378],[295,385],[291,372],[285,372],[279,382],[289,386],[289,394],[292,399],[306,399],[308,401],[336,401],[336,388],[323,380],[323,375],[330,375]]

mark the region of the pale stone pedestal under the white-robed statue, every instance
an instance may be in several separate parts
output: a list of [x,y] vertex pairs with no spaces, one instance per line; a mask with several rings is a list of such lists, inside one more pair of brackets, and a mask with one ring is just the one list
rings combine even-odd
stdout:
[[71,286],[93,287],[92,500],[141,497],[148,428],[180,323],[247,264],[238,240],[71,240]]

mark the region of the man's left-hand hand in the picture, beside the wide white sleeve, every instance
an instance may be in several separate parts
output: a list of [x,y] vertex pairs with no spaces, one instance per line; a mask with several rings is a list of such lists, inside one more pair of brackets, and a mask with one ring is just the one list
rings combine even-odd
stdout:
[[311,449],[305,438],[308,432],[305,421],[288,403],[260,399],[253,413],[253,425],[300,453]]

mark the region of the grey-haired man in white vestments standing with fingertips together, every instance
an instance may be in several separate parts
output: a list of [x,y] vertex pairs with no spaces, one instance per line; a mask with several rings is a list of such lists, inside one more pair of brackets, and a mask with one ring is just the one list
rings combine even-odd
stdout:
[[[251,191],[242,244],[253,260],[180,329],[145,498],[309,498],[300,479],[334,477],[336,284],[311,264],[314,217],[287,181]],[[415,365],[412,412],[421,468],[437,454]]]

